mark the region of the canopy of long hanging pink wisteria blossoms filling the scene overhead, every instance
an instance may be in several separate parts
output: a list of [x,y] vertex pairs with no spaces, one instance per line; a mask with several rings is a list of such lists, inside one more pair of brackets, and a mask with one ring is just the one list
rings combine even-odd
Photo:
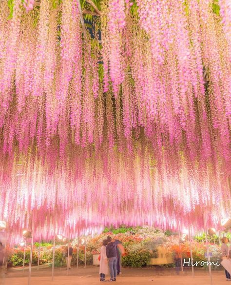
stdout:
[[0,220],[17,240],[231,214],[230,0],[0,0]]

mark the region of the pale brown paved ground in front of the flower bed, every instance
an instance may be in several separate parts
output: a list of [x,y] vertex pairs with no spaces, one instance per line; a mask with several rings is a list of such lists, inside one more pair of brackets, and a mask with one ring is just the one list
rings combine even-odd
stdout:
[[[30,285],[99,285],[98,267],[72,268],[67,276],[65,268],[56,268],[54,281],[51,280],[51,268],[32,268]],[[21,272],[21,269],[10,269],[8,273],[0,279],[1,285],[27,285],[28,269]],[[223,271],[212,272],[213,285],[227,284]],[[208,271],[195,270],[192,277],[190,270],[185,270],[180,275],[176,275],[172,269],[156,270],[152,268],[127,268],[123,269],[123,274],[117,277],[116,283],[120,285],[210,285]],[[229,283],[228,283],[229,284]]]

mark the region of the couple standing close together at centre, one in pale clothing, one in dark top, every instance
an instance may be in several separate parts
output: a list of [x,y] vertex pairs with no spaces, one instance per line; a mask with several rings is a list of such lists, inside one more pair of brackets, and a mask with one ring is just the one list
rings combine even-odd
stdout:
[[120,273],[119,244],[122,246],[120,241],[113,240],[110,236],[108,236],[106,240],[103,240],[103,244],[100,249],[100,281],[106,281],[105,275],[108,274],[108,263],[111,275],[111,279],[109,281],[116,281],[116,275]]

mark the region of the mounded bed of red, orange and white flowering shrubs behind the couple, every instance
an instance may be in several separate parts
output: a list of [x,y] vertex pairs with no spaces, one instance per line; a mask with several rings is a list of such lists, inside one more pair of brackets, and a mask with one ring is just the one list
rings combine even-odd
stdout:
[[[129,267],[141,267],[147,266],[150,263],[151,258],[157,258],[157,248],[163,245],[167,249],[168,257],[172,255],[174,257],[180,256],[188,261],[190,258],[190,244],[185,242],[179,247],[178,236],[171,235],[169,232],[166,234],[162,230],[155,229],[153,227],[135,227],[135,228],[120,228],[116,230],[106,229],[101,235],[91,238],[87,242],[86,251],[86,263],[87,265],[93,265],[93,254],[100,252],[101,244],[107,236],[110,235],[114,239],[122,242],[125,247],[125,254],[122,256],[122,266]],[[77,240],[72,241],[73,245],[73,258],[72,265],[77,265]],[[35,244],[33,250],[32,265],[38,264],[38,246]],[[212,252],[211,261],[219,262],[221,257],[220,246],[218,244],[210,244],[210,252]],[[60,266],[63,258],[63,252],[66,249],[66,245],[56,245],[55,249],[55,266]],[[203,242],[194,240],[192,242],[193,249],[193,261],[207,261],[205,258],[206,245]],[[79,247],[79,265],[84,264],[84,250],[85,246]],[[11,251],[9,256],[10,266],[19,266],[23,264],[23,248],[15,248]],[[30,248],[26,248],[25,265],[29,264]],[[42,244],[40,247],[40,264],[52,263],[52,244]],[[63,265],[66,262],[63,261]],[[169,265],[163,265],[168,266]],[[217,266],[213,266],[217,268]],[[221,267],[221,266],[220,266]]]

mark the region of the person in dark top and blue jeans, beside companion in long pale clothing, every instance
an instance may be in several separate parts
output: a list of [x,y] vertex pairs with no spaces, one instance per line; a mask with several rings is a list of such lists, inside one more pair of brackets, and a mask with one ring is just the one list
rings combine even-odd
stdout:
[[106,246],[106,254],[109,259],[109,268],[111,279],[109,281],[116,281],[116,264],[117,264],[117,249],[116,243],[112,242],[111,237],[107,237],[108,244]]

